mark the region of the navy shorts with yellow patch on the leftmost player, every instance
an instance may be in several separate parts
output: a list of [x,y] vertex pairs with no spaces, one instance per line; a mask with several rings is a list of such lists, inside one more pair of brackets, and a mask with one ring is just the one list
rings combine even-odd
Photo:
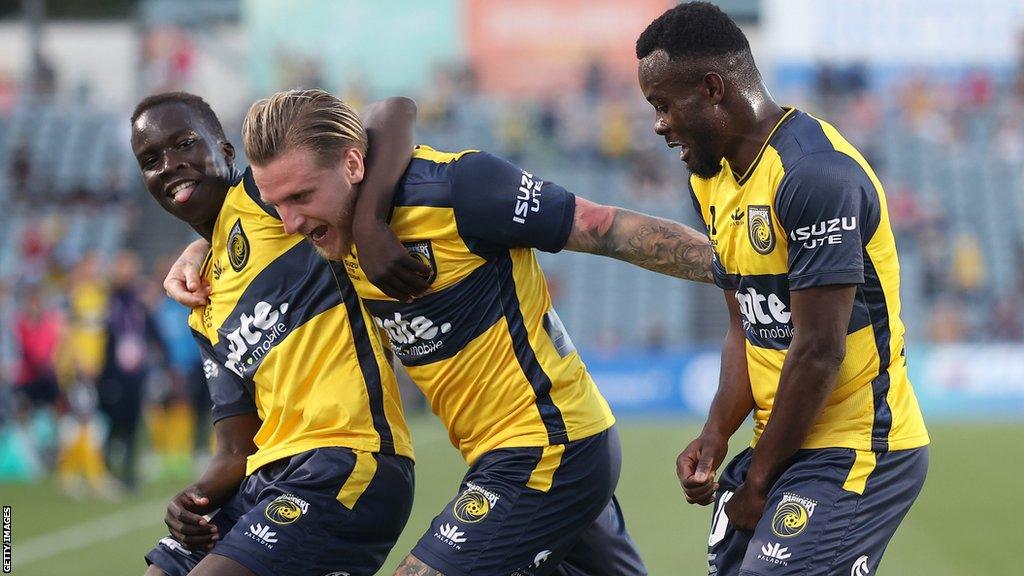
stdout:
[[[348,448],[317,448],[248,477],[212,522],[222,539],[210,553],[260,576],[373,575],[413,507],[413,461]],[[174,539],[145,560],[184,576],[206,556]]]

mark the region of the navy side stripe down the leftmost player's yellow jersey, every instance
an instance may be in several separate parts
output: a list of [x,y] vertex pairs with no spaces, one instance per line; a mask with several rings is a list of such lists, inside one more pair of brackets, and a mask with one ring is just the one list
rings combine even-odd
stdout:
[[338,288],[345,301],[345,310],[348,312],[348,323],[352,329],[352,340],[355,342],[355,355],[370,400],[370,413],[373,415],[374,428],[381,439],[381,453],[394,454],[394,437],[391,434],[391,424],[387,421],[387,414],[384,412],[384,387],[381,383],[380,366],[377,364],[377,355],[374,354],[374,346],[370,341],[367,323],[362,321],[359,299],[342,264],[340,262],[331,264],[338,279]]

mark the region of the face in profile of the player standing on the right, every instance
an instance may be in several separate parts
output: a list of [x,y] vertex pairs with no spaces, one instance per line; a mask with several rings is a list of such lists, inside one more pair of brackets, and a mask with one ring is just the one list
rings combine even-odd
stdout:
[[681,149],[679,158],[690,172],[710,178],[721,171],[725,157],[722,127],[702,86],[681,76],[664,50],[640,60],[640,89],[654,107],[654,132],[669,148]]

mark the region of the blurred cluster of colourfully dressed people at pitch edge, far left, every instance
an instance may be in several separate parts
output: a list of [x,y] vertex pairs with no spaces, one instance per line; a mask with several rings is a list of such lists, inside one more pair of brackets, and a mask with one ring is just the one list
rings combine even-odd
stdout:
[[[189,478],[209,400],[187,311],[121,250],[63,268],[33,246],[33,274],[0,279],[0,481],[54,471],[71,496],[117,498],[151,476]],[[143,440],[143,437],[147,440]]]

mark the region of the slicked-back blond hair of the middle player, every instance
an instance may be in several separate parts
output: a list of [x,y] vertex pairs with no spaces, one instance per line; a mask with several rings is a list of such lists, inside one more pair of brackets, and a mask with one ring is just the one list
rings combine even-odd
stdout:
[[246,157],[257,166],[297,148],[315,154],[322,167],[336,166],[348,148],[367,153],[359,116],[319,89],[286,90],[258,100],[242,124],[242,139]]

